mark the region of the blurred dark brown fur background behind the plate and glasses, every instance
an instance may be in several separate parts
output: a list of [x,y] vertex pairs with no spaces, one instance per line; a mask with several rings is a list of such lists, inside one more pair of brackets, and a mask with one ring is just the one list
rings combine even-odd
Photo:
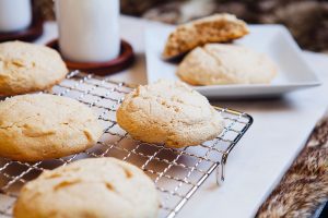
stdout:
[[[227,12],[254,24],[284,24],[306,50],[328,53],[328,0],[120,0],[121,13],[171,24]],[[35,1],[46,20],[52,0]]]

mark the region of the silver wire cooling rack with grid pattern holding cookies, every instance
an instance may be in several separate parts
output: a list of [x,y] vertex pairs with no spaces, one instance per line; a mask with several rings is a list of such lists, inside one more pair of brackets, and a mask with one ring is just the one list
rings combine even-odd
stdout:
[[0,158],[0,217],[11,217],[14,201],[24,183],[45,169],[54,169],[89,157],[116,157],[140,167],[156,184],[161,197],[160,217],[174,217],[203,181],[216,169],[224,181],[224,166],[231,150],[251,125],[250,116],[216,108],[226,126],[216,138],[180,149],[132,140],[116,122],[116,110],[133,89],[124,83],[73,71],[52,93],[75,98],[98,116],[104,134],[91,149],[69,157],[38,162]]

